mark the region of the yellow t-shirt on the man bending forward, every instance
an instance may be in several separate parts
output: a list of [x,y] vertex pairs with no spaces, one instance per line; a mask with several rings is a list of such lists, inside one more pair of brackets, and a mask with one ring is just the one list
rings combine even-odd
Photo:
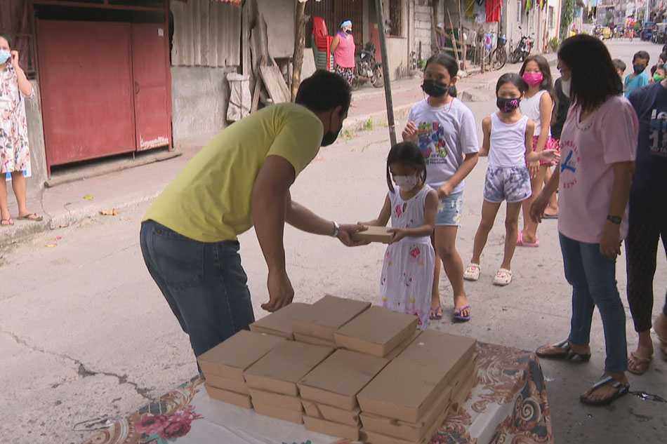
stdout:
[[283,157],[298,175],[317,155],[322,132],[322,121],[301,105],[260,109],[206,144],[142,222],[154,220],[196,241],[234,240],[253,226],[253,185],[266,156]]

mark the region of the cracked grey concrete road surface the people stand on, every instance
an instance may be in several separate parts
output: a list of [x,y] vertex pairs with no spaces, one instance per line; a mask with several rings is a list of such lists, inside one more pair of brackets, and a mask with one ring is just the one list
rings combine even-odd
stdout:
[[[479,130],[482,116],[494,111],[494,101],[470,107]],[[387,192],[386,149],[386,128],[360,132],[358,137],[352,134],[322,149],[298,177],[293,199],[340,222],[375,217]],[[482,159],[467,180],[458,236],[465,263],[480,221],[485,170]],[[139,220],[146,208],[100,216],[0,250],[1,442],[79,443],[92,433],[72,430],[75,424],[127,415],[195,375],[187,337],[140,254]],[[556,221],[546,221],[539,235],[540,248],[517,249],[513,283],[494,287],[491,278],[503,254],[499,218],[484,250],[480,281],[465,284],[473,321],[460,325],[450,320],[451,288],[443,277],[440,289],[446,316],[431,328],[529,350],[566,337],[571,290],[562,272]],[[62,238],[53,241],[57,236]],[[376,302],[383,245],[350,249],[291,227],[286,228],[285,238],[296,301],[310,302],[330,292]],[[266,267],[253,232],[240,240],[255,313],[264,316],[260,304],[267,299]],[[47,248],[46,243],[57,246]],[[637,338],[625,297],[624,256],[617,265],[617,278],[632,349]],[[666,288],[667,264],[660,254],[655,314]],[[664,403],[637,396],[626,396],[607,408],[579,403],[579,393],[600,376],[605,358],[597,312],[591,348],[593,358],[586,365],[541,361],[556,442],[663,442]],[[666,374],[667,363],[656,357],[647,374],[629,375],[631,390],[666,398]]]

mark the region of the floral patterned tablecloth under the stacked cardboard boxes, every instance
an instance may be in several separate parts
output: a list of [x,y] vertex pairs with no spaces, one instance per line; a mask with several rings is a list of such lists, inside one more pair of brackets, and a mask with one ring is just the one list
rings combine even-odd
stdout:
[[[83,444],[351,444],[211,400],[192,379]],[[477,345],[477,381],[430,444],[553,444],[546,386],[534,353]]]

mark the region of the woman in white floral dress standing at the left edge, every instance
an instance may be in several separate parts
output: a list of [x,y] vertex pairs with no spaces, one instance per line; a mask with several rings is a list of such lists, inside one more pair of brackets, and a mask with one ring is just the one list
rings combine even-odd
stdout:
[[30,168],[24,97],[32,97],[32,85],[18,65],[18,51],[11,50],[9,36],[0,34],[0,226],[13,225],[7,205],[6,173],[18,202],[18,219],[41,220],[25,206],[25,177]]

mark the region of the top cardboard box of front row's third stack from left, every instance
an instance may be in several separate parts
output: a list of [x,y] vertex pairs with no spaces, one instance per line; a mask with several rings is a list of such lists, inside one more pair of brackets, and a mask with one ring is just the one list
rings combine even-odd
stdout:
[[301,397],[337,408],[357,407],[357,393],[389,361],[357,351],[336,350],[298,382]]

